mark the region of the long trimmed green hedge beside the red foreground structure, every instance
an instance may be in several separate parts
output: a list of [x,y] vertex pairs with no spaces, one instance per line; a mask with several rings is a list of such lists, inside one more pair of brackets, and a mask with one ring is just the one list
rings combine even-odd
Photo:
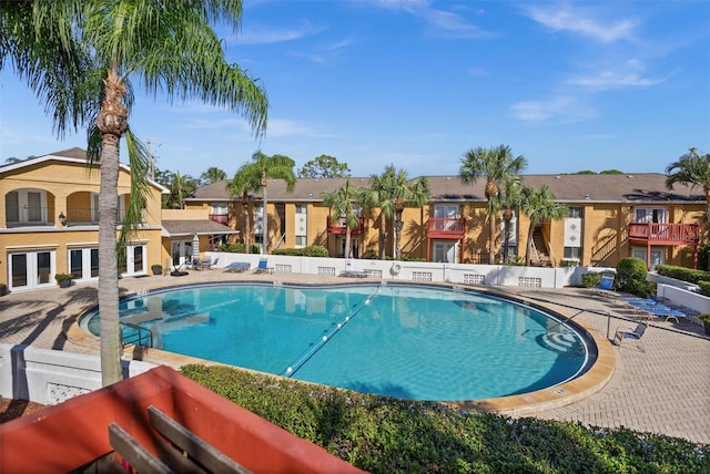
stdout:
[[710,472],[710,445],[677,437],[469,413],[221,365],[184,365],[181,371],[374,473]]

